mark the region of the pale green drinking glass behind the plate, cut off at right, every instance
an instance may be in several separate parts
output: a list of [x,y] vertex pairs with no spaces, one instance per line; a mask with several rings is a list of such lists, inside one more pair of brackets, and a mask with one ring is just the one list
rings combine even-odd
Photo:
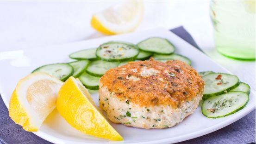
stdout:
[[255,1],[211,1],[210,7],[217,51],[255,60]]

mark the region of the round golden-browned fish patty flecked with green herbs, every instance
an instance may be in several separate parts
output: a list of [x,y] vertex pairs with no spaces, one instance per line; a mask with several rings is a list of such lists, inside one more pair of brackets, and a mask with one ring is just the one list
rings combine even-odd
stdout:
[[99,104],[108,119],[130,127],[173,127],[199,105],[204,81],[179,60],[130,62],[100,78]]

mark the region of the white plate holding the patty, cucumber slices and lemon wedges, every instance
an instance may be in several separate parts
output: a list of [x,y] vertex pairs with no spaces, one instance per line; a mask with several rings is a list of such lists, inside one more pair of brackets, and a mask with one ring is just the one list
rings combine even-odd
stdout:
[[[68,55],[77,50],[97,47],[101,43],[110,40],[123,40],[137,43],[148,37],[160,36],[169,39],[176,47],[175,52],[180,53],[192,61],[192,66],[198,71],[212,70],[215,72],[230,73],[228,70],[214,63],[210,58],[196,48],[182,40],[166,29],[152,29],[144,32],[136,32],[124,35],[114,35],[104,38],[85,40],[60,46],[44,48],[30,48],[19,51],[0,52],[0,93],[6,105],[17,81],[31,73],[31,71],[43,64],[61,63],[71,61]],[[98,93],[93,95],[98,104]],[[255,109],[255,93],[251,92],[247,106],[233,115],[223,118],[210,119],[202,115],[200,106],[194,114],[189,115],[183,122],[175,127],[166,129],[142,129],[125,127],[121,124],[111,125],[124,137],[124,141],[116,142],[106,139],[95,138],[83,134],[69,124],[55,110],[44,122],[37,136],[57,144],[169,144],[196,138],[207,133],[216,131],[222,127],[239,120]]]

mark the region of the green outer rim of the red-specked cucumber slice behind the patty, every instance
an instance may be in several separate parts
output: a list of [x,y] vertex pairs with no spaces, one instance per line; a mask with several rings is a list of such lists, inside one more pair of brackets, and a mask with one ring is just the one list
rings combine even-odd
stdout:
[[115,43],[125,44],[125,45],[132,46],[132,47],[136,48],[136,49],[137,49],[137,55],[135,55],[134,57],[131,57],[131,58],[122,58],[122,59],[101,58],[101,57],[98,55],[98,53],[97,53],[97,51],[100,50],[100,46],[101,46],[101,45],[100,45],[100,46],[97,48],[97,50],[96,50],[96,57],[97,57],[98,59],[100,59],[100,60],[108,61],[108,62],[123,62],[123,61],[134,61],[134,60],[136,60],[136,58],[137,58],[137,56],[138,56],[138,54],[139,54],[139,48],[138,48],[136,45],[132,44],[132,43],[124,42],[124,41],[109,41],[109,42],[106,42],[106,43],[104,43],[104,44],[102,44],[102,45],[106,45],[106,44],[115,44]]

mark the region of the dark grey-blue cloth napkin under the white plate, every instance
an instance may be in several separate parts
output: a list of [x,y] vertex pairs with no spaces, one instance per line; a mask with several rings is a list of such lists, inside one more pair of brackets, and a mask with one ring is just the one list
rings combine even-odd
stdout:
[[[199,48],[192,36],[182,26],[171,29],[173,33]],[[178,144],[250,144],[255,143],[255,110],[244,118],[210,134],[187,140]],[[51,144],[37,137],[32,132],[26,132],[15,124],[8,115],[0,97],[0,144]]]

